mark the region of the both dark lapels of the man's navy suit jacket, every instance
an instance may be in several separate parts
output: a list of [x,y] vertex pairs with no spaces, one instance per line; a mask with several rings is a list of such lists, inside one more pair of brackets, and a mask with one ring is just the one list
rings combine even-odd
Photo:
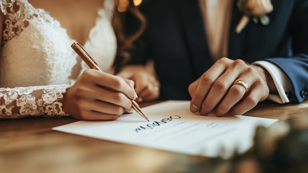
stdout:
[[[183,36],[190,53],[192,68],[199,77],[209,69],[214,61],[208,46],[201,10],[198,0],[174,0],[177,18],[183,29]],[[233,0],[232,16],[229,29],[228,58],[243,59],[246,56],[246,38],[249,35],[249,23],[237,34],[235,28],[243,13],[237,7],[237,0]]]

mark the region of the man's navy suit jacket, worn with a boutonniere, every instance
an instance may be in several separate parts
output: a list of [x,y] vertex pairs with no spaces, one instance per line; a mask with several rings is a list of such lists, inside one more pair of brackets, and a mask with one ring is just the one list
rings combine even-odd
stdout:
[[[308,99],[308,0],[272,0],[267,26],[250,21],[235,33],[243,16],[234,0],[228,58],[265,60],[282,69],[294,91],[291,103]],[[213,65],[198,0],[143,0],[147,29],[136,42],[132,64],[154,59],[161,100],[190,100],[188,86]]]

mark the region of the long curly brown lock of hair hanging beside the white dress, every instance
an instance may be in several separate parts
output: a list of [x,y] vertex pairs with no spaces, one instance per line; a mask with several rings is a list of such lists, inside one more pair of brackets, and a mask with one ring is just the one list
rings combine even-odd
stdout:
[[129,59],[129,50],[133,49],[133,42],[144,32],[146,19],[141,14],[138,6],[133,0],[126,0],[127,10],[118,10],[119,0],[117,0],[116,10],[113,18],[113,28],[117,36],[117,55],[114,62],[115,73],[125,65]]

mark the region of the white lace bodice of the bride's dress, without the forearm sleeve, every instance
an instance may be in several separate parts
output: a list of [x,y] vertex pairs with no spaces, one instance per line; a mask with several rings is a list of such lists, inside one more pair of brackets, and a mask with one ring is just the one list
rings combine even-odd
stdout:
[[[104,1],[83,45],[105,71],[112,66],[116,53],[111,26],[113,5],[113,0]],[[0,87],[71,84],[89,68],[77,61],[79,57],[70,47],[76,40],[47,11],[34,8],[27,0],[1,0],[0,7],[5,15]],[[79,71],[73,71],[74,66]]]

